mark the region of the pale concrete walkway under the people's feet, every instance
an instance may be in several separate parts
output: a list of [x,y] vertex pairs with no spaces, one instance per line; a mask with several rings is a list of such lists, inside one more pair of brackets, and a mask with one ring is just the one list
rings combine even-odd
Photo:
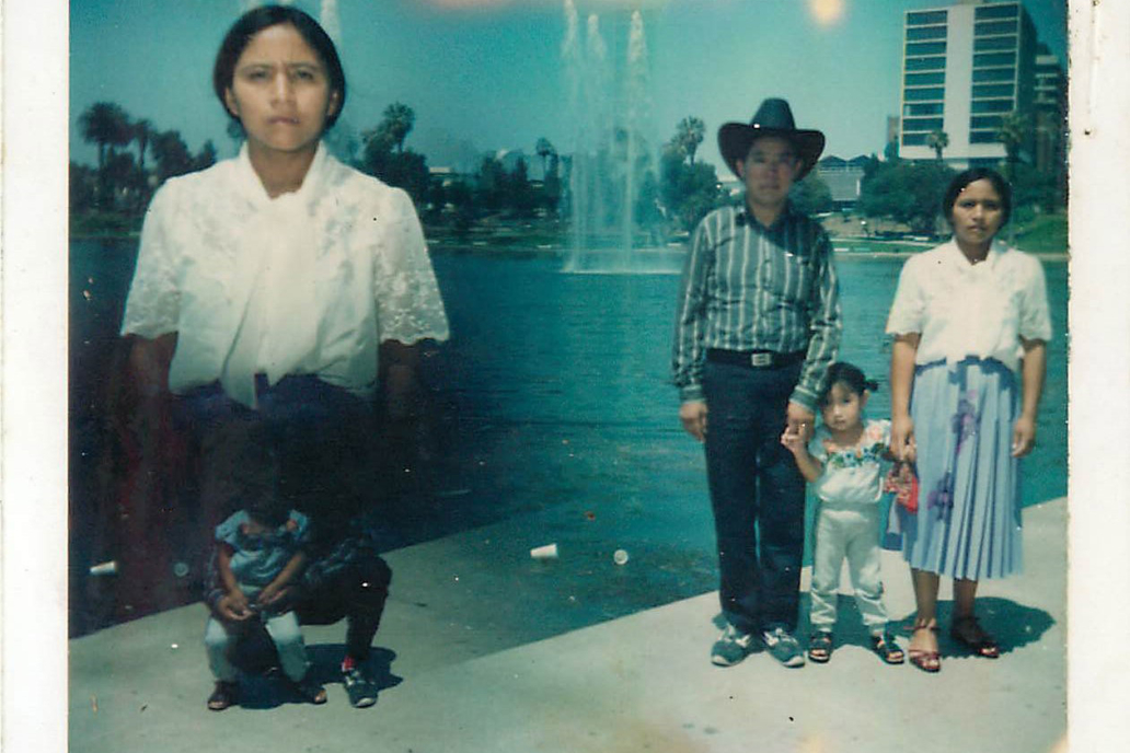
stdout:
[[[484,550],[484,542],[506,541],[513,525],[388,557],[397,579],[377,633],[383,688],[375,708],[350,708],[341,685],[330,681],[344,632],[333,625],[306,632],[315,667],[330,682],[327,706],[290,702],[255,681],[243,708],[207,711],[205,612],[193,605],[70,642],[70,750],[1063,750],[1063,499],[1025,510],[1024,575],[982,585],[982,621],[1001,640],[1001,658],[962,656],[944,637],[944,668],[935,676],[883,665],[864,648],[847,598],[841,601],[837,634],[837,643],[846,645],[829,664],[799,671],[764,654],[737,667],[713,667],[707,654],[718,634],[716,594],[515,645],[504,629],[505,610],[519,607],[501,606],[515,553]],[[633,559],[624,567],[645,566]],[[905,566],[885,553],[884,569],[888,608],[903,620],[913,610]],[[942,598],[949,598],[945,586]],[[947,601],[942,624],[948,607]]]

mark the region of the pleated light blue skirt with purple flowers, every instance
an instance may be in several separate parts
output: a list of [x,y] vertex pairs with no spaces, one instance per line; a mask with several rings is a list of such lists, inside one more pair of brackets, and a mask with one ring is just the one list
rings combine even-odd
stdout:
[[996,360],[919,366],[911,396],[919,506],[899,508],[912,568],[981,580],[1018,572],[1019,463],[1011,456],[1016,375]]

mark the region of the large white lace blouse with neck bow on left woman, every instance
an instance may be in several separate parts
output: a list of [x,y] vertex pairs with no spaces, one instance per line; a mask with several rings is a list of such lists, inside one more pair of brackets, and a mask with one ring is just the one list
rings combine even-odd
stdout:
[[258,373],[371,394],[379,343],[445,340],[447,318],[407,193],[319,146],[302,187],[271,199],[244,147],[149,205],[122,334],[172,332],[174,393],[218,379],[254,406]]

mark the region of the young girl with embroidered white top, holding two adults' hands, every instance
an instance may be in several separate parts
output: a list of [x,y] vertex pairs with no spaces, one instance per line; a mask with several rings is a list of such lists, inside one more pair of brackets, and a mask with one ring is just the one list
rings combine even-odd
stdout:
[[902,649],[887,631],[879,575],[879,499],[890,422],[863,418],[875,388],[851,364],[833,364],[819,403],[824,423],[811,441],[806,446],[799,434],[788,431],[781,438],[819,498],[808,643],[808,658],[816,663],[832,657],[836,592],[845,558],[855,603],[871,633],[871,649],[887,664],[903,662]]

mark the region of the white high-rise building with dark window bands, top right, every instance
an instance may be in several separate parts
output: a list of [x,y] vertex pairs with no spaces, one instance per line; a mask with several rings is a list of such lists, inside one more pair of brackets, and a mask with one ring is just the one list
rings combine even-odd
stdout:
[[940,146],[955,167],[997,165],[998,129],[1016,112],[1027,119],[1018,154],[1031,161],[1035,69],[1035,26],[1020,2],[906,11],[899,157],[931,159]]

